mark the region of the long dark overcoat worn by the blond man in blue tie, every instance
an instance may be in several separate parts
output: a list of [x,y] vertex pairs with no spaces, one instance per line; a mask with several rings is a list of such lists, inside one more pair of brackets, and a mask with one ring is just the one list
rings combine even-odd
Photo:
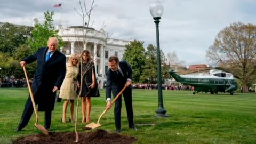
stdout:
[[32,83],[32,90],[35,103],[38,104],[38,111],[54,109],[56,93],[53,93],[52,90],[54,86],[60,89],[66,73],[65,55],[57,50],[45,62],[47,50],[48,48],[46,47],[39,48],[33,55],[24,59],[26,63],[37,60],[37,69]]

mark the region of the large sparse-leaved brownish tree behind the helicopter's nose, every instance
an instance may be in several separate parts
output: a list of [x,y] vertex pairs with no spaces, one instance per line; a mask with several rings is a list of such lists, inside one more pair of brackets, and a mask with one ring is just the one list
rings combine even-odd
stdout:
[[247,92],[256,78],[256,26],[235,22],[221,30],[206,58],[237,76]]

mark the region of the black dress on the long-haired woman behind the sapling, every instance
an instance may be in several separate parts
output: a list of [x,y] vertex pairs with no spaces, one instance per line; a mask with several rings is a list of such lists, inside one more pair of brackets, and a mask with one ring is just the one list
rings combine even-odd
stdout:
[[[82,84],[82,93],[81,97],[100,97],[99,89],[98,89],[98,83],[96,80],[96,73],[95,73],[95,67],[93,62],[87,62],[82,63],[83,65],[83,84]],[[94,78],[95,78],[95,86],[93,89],[89,88],[89,86],[92,84],[92,71],[94,72]],[[77,76],[78,82],[81,81],[81,66],[79,66],[79,74]],[[80,89],[78,88],[77,94],[79,94]]]

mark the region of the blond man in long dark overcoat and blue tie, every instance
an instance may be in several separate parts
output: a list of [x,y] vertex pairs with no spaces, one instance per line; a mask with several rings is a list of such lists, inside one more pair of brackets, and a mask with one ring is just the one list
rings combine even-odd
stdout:
[[[50,37],[47,48],[39,48],[33,55],[20,62],[21,67],[37,60],[37,69],[33,78],[32,90],[38,111],[45,111],[45,129],[51,126],[52,110],[54,109],[56,91],[60,89],[66,73],[66,57],[57,50],[59,41]],[[16,132],[25,127],[33,114],[33,104],[30,97],[26,102],[21,120]]]

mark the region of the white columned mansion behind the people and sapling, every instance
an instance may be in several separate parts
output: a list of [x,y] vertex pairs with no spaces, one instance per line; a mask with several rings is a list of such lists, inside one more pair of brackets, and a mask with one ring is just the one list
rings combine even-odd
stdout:
[[94,28],[84,26],[70,26],[63,28],[57,25],[58,35],[61,36],[64,46],[61,52],[68,58],[71,54],[81,54],[83,50],[88,50],[93,56],[99,87],[106,83],[105,72],[108,69],[108,58],[116,55],[120,60],[123,58],[125,45],[130,41],[107,37],[104,30],[98,31]]

